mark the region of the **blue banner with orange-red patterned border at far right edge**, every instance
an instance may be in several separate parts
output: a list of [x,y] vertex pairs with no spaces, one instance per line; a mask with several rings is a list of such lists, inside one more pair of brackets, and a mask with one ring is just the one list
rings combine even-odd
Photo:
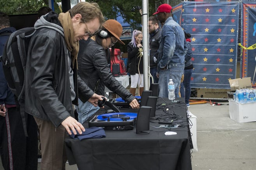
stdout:
[[[241,3],[241,45],[245,48],[256,44],[256,2]],[[252,87],[256,87],[256,49],[242,50],[241,77],[251,77]]]

